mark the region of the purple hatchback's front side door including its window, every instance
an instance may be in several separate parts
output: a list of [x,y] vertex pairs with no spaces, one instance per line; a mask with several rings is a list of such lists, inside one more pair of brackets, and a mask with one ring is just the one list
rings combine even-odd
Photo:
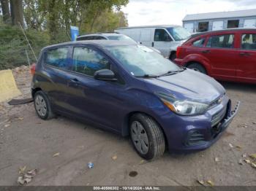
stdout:
[[118,92],[122,87],[118,82],[94,79],[95,71],[112,68],[100,50],[89,45],[73,47],[67,104],[75,117],[118,131],[113,119],[118,117],[120,111]]

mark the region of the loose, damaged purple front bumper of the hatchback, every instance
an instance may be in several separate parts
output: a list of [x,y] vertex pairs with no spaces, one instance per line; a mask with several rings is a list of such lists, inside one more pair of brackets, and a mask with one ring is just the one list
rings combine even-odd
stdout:
[[[172,117],[172,127],[164,128],[170,151],[197,151],[203,150],[214,144],[233,121],[239,109],[240,102],[231,109],[231,101],[226,100],[219,106],[194,117],[176,115]],[[224,112],[223,112],[224,111]],[[216,115],[218,114],[218,115]],[[216,122],[215,116],[219,117]],[[167,118],[165,117],[165,120]],[[213,122],[214,121],[214,122]]]

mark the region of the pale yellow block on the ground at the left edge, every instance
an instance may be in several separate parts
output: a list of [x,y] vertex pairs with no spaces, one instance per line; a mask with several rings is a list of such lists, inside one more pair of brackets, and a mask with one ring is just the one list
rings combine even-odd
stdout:
[[0,102],[20,95],[11,70],[0,71]]

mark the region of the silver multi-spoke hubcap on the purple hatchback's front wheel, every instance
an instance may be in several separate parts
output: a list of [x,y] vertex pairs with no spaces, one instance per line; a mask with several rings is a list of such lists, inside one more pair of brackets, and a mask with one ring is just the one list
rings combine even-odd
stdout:
[[138,152],[146,154],[148,152],[148,135],[140,122],[132,122],[131,136]]

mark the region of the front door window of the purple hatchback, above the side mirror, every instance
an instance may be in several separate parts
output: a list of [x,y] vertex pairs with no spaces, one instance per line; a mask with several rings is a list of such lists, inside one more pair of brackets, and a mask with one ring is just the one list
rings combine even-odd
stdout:
[[73,71],[94,76],[100,69],[110,69],[110,63],[99,52],[87,47],[74,47]]

